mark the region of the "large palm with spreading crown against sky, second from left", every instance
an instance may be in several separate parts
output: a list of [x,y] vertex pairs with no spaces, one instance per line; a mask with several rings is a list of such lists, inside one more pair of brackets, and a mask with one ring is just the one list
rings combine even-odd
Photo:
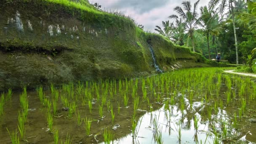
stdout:
[[[185,30],[188,32],[188,36],[191,38],[194,52],[195,52],[195,42],[194,42],[193,34],[194,34],[195,29],[198,26],[197,6],[198,6],[199,1],[200,0],[195,2],[193,9],[192,9],[192,5],[191,5],[190,1],[184,1],[181,3],[183,5],[184,10],[179,6],[174,8],[174,11],[176,11],[179,14],[179,16],[181,17],[182,22],[185,25]],[[172,19],[172,18],[179,19],[179,17],[177,15],[171,15],[171,16],[169,16],[169,18],[170,19]]]

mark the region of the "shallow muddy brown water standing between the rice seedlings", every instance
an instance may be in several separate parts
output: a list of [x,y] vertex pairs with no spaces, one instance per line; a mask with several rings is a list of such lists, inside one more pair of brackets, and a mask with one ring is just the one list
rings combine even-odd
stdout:
[[[155,78],[155,77],[152,77]],[[96,100],[95,91],[93,93],[93,104],[92,113],[90,114],[88,110],[88,104],[82,105],[82,97],[78,96],[77,101],[69,98],[69,101],[76,101],[77,110],[81,113],[81,117],[91,118],[93,120],[91,124],[91,134],[92,136],[87,136],[85,133],[85,124],[82,123],[80,126],[77,125],[76,114],[72,117],[68,117],[67,111],[62,111],[64,105],[61,102],[59,96],[58,99],[58,114],[53,117],[53,128],[59,130],[59,141],[65,141],[67,134],[69,134],[74,144],[95,144],[104,141],[102,132],[104,128],[110,128],[112,133],[115,134],[113,141],[114,144],[154,144],[155,132],[153,121],[157,122],[157,131],[162,134],[162,140],[164,144],[173,143],[206,143],[213,144],[216,139],[215,136],[219,138],[219,143],[255,143],[256,142],[256,123],[251,119],[256,117],[256,100],[248,100],[249,96],[253,93],[251,85],[248,84],[245,88],[247,99],[246,113],[242,116],[241,120],[237,118],[238,124],[237,129],[234,128],[233,120],[234,114],[237,114],[240,105],[240,97],[238,93],[240,91],[240,84],[237,79],[245,79],[237,76],[231,76],[232,79],[232,90],[234,90],[236,97],[233,98],[231,102],[226,104],[226,92],[228,91],[227,85],[225,84],[225,78],[222,77],[222,82],[220,90],[209,90],[207,85],[182,89],[179,87],[184,85],[179,83],[176,86],[170,86],[170,91],[162,93],[160,89],[155,92],[151,91],[149,88],[149,83],[146,82],[147,97],[152,104],[153,111],[150,112],[148,102],[144,101],[143,93],[141,91],[141,83],[138,86],[138,96],[140,97],[139,109],[136,111],[136,121],[138,121],[136,130],[138,134],[132,136],[131,134],[131,117],[133,115],[133,98],[131,96],[132,88],[128,88],[117,93],[111,98],[107,96],[107,101],[110,101],[114,108],[115,122],[114,125],[120,125],[116,130],[112,130],[111,123],[111,113],[107,110],[107,105],[103,108],[104,119],[99,118],[99,104],[101,100]],[[251,80],[252,81],[252,80]],[[178,83],[176,81],[176,83]],[[134,83],[134,81],[133,81]],[[175,83],[175,82],[173,82]],[[172,83],[172,84],[173,84]],[[203,82],[202,82],[203,83]],[[159,83],[158,83],[159,84]],[[118,85],[118,84],[117,84]],[[157,82],[155,83],[157,85]],[[175,84],[173,84],[175,85]],[[193,85],[193,84],[192,84]],[[132,85],[130,85],[132,87]],[[67,93],[63,89],[58,89],[60,95],[65,96]],[[90,88],[89,88],[90,89]],[[156,86],[157,89],[157,86]],[[75,91],[75,90],[74,90]],[[53,99],[50,91],[44,91],[46,96],[50,100]],[[193,92],[192,103],[189,100],[189,95]],[[101,92],[100,92],[101,93]],[[129,97],[128,107],[124,107],[123,95],[128,93]],[[154,93],[160,94],[160,101],[157,102],[157,98]],[[218,93],[218,94],[217,94]],[[15,131],[18,130],[18,111],[21,110],[19,104],[19,92],[13,94],[11,101],[7,101],[4,106],[4,114],[0,116],[0,144],[8,144],[11,142],[10,136],[6,130]],[[205,98],[205,95],[207,98]],[[183,98],[182,98],[183,96]],[[29,113],[27,122],[25,123],[25,137],[21,140],[23,144],[48,144],[54,143],[53,133],[47,131],[48,125],[45,118],[46,108],[41,104],[38,99],[36,92],[28,92],[27,94],[29,100]],[[68,96],[67,96],[68,97]],[[173,97],[173,100],[171,98]],[[183,99],[183,100],[182,100]],[[173,101],[165,103],[166,101]],[[183,102],[181,102],[183,101]],[[221,106],[221,101],[223,106]],[[117,112],[117,102],[120,103],[120,114]],[[106,102],[107,103],[107,102]],[[217,103],[216,109],[214,105]],[[209,116],[208,109],[211,109],[211,115]],[[194,119],[195,116],[198,117],[198,130],[195,130]],[[141,123],[140,123],[141,122]],[[227,136],[223,137],[223,123],[226,123]],[[181,141],[178,139],[178,129],[181,126]],[[215,135],[216,133],[216,135]],[[18,133],[19,136],[19,133]]]

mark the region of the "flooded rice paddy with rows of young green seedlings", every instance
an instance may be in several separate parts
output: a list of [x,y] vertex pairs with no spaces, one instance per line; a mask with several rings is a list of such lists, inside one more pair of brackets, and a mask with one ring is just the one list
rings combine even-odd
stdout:
[[256,80],[224,69],[9,89],[0,143],[256,143]]

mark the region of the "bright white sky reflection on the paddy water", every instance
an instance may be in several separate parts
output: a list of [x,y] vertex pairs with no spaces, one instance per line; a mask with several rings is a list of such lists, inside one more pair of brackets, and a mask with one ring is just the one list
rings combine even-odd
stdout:
[[[177,112],[178,111],[178,112]],[[167,117],[171,115],[169,111],[167,112]],[[196,113],[195,115],[198,115]],[[153,128],[151,125],[151,120],[156,117],[158,120],[159,130],[162,129],[162,139],[164,144],[175,144],[179,143],[178,141],[178,131],[176,130],[178,128],[177,123],[179,123],[179,120],[181,119],[181,112],[177,109],[177,107],[173,108],[173,114],[171,115],[171,121],[168,123],[169,118],[165,116],[165,111],[163,107],[160,110],[157,110],[155,112],[147,113],[145,114],[141,119],[141,126],[139,129],[139,134],[136,140],[134,140],[134,143],[136,144],[155,144],[154,138],[153,138]],[[140,119],[140,120],[141,120]],[[187,118],[184,119],[184,125],[186,125],[188,122]],[[171,133],[169,135],[169,126],[171,126]],[[194,136],[195,136],[195,129],[194,129],[194,121],[191,120],[190,122],[190,128],[186,128],[186,126],[182,127],[182,135],[181,135],[181,144],[193,144],[194,142]],[[151,127],[151,128],[150,128]],[[207,124],[200,124],[198,128],[197,133],[197,139],[200,142],[200,140],[205,141],[206,139],[206,133],[203,131],[207,131],[208,126]],[[207,141],[212,141],[210,137],[207,138]],[[133,143],[133,137],[131,135],[126,136],[123,139],[120,139],[119,141],[114,141],[114,144],[132,144]]]

